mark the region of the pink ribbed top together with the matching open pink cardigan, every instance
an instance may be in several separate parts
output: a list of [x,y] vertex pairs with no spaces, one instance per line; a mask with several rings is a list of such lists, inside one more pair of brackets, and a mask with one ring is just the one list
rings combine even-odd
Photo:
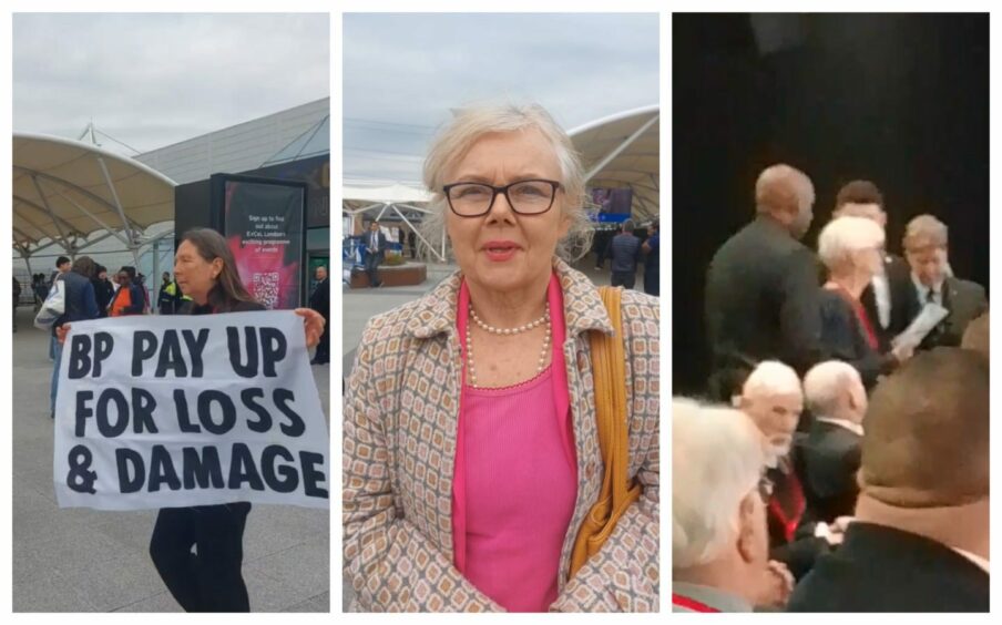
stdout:
[[[466,385],[466,367],[462,373],[452,481],[456,567],[510,611],[545,611],[556,598],[560,552],[577,496],[563,293],[555,275],[546,297],[553,354],[543,373],[504,389],[474,389]],[[463,283],[460,337],[469,301]]]

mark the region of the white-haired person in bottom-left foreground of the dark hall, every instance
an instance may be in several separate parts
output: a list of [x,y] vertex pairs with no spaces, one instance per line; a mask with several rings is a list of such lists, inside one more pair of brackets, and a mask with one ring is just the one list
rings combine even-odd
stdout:
[[672,612],[781,606],[793,580],[769,563],[765,454],[740,411],[672,407]]

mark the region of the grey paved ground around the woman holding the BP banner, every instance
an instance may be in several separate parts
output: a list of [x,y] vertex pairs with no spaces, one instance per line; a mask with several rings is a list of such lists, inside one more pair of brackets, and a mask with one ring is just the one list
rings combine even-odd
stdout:
[[[180,612],[147,554],[155,511],[61,510],[52,485],[48,338],[18,309],[13,335],[14,612]],[[330,413],[327,367],[313,367]],[[338,462],[331,459],[331,463]],[[336,491],[336,488],[331,489]],[[329,512],[255,505],[244,534],[254,612],[330,611]]]

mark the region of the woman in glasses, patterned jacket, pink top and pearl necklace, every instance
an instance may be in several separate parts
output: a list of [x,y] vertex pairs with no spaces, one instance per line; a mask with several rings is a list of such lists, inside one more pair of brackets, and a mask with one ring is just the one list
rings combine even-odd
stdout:
[[361,338],[344,429],[358,607],[656,609],[657,299],[622,296],[643,494],[571,577],[603,479],[589,335],[612,330],[595,286],[560,258],[587,249],[581,163],[541,107],[483,107],[438,136],[425,182],[425,227],[444,228],[459,271]]

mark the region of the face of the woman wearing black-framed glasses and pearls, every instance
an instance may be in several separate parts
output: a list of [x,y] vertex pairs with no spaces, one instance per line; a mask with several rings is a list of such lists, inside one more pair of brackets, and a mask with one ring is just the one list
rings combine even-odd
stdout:
[[[453,167],[446,184],[504,186],[525,180],[560,181],[560,163],[535,129],[481,136]],[[460,217],[446,207],[446,228],[456,259],[471,283],[498,291],[528,288],[548,279],[558,242],[568,233],[563,191],[536,215],[515,214],[498,194],[487,215]]]

